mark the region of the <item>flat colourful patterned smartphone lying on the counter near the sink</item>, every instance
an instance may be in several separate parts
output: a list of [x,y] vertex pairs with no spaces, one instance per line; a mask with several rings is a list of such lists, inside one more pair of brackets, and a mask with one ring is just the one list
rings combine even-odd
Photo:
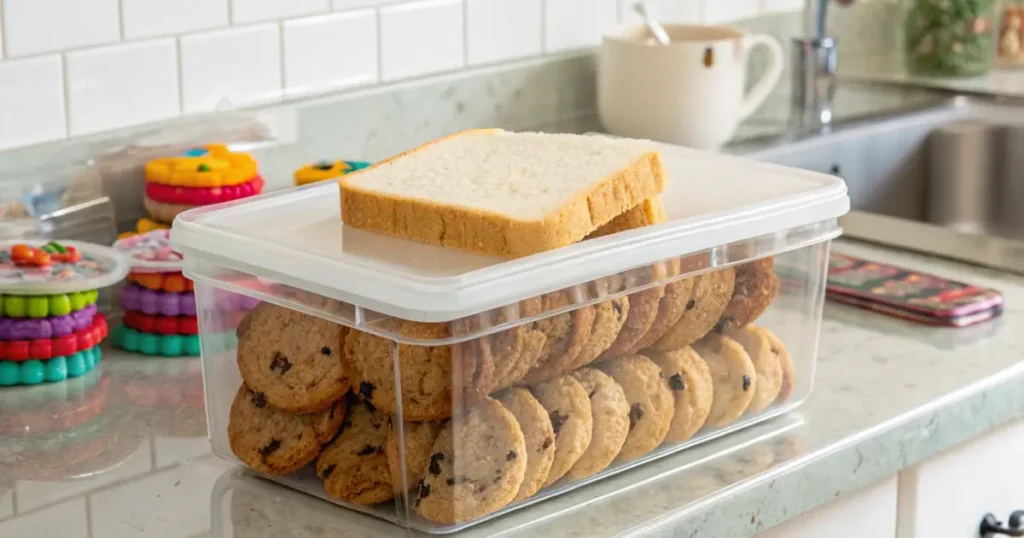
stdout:
[[1002,294],[934,275],[833,252],[827,297],[904,320],[967,327],[1002,313]]

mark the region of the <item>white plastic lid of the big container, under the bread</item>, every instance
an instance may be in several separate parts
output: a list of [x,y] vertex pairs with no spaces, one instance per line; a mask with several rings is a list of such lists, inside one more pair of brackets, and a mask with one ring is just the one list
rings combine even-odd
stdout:
[[357,306],[444,322],[666,258],[835,219],[842,179],[655,144],[669,173],[668,221],[518,259],[346,226],[335,181],[189,210],[171,232],[185,274],[227,267]]

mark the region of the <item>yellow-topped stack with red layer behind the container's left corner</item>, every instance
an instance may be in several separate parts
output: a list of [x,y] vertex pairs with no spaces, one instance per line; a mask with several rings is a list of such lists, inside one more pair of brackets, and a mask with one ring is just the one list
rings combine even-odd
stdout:
[[195,148],[183,156],[154,159],[145,165],[146,227],[169,226],[178,213],[195,207],[230,202],[263,192],[256,161],[224,144]]

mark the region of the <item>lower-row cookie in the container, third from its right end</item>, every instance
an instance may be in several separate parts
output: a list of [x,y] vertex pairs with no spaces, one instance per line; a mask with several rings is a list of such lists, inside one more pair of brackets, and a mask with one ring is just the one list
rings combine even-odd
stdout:
[[726,426],[743,414],[754,398],[758,380],[754,363],[742,345],[717,333],[694,343],[693,350],[708,363],[715,384],[707,424]]

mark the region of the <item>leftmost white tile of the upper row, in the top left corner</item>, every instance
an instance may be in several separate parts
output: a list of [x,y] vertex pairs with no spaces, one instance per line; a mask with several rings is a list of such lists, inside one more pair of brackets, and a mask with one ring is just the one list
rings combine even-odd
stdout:
[[2,5],[9,56],[121,38],[118,0],[4,0]]

